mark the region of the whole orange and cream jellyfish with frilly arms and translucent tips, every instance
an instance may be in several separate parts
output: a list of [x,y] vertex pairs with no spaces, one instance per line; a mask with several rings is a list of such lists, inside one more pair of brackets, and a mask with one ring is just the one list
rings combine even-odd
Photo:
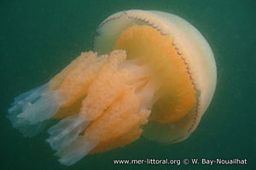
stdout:
[[187,139],[217,81],[201,33],[177,15],[145,10],[110,15],[96,32],[94,52],[15,98],[13,127],[27,137],[48,128],[46,141],[67,166],[141,136],[161,144]]

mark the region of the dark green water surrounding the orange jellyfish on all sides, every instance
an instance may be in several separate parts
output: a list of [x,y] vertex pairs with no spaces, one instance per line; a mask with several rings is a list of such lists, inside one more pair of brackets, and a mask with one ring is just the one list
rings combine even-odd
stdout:
[[[47,134],[23,138],[6,118],[15,96],[61,71],[92,49],[96,26],[117,11],[154,9],[177,14],[206,37],[218,67],[212,104],[189,139],[155,144],[145,139],[61,166]],[[45,169],[235,169],[253,170],[256,105],[255,1],[11,1],[0,2],[0,168]],[[113,159],[247,159],[247,165],[113,165]]]

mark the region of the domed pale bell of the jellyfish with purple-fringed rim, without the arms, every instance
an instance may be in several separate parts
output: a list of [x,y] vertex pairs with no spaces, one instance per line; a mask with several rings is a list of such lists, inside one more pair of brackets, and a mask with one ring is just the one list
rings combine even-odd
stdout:
[[[147,34],[147,31],[141,29],[141,35],[137,31],[137,33],[133,32],[133,37],[127,33],[123,44],[120,44],[120,35],[132,26],[149,26],[151,31]],[[207,110],[217,81],[217,69],[212,49],[201,33],[188,21],[175,14],[144,10],[128,10],[113,14],[102,22],[97,32],[94,47],[99,54],[108,54],[113,48],[123,48],[127,52],[128,59],[155,54],[153,58],[160,60],[168,53],[169,58],[179,59],[179,61],[169,62],[168,67],[177,65],[177,69],[185,71],[187,75],[169,77],[169,80],[174,81],[173,78],[177,78],[183,83],[192,85],[193,89],[189,88],[189,85],[186,88],[181,86],[181,82],[177,83],[178,87],[173,88],[173,83],[170,82],[170,91],[166,90],[165,94],[155,103],[149,122],[143,126],[143,136],[160,143],[173,143],[188,138]],[[158,38],[156,38],[157,34]],[[161,42],[159,37],[162,38]],[[129,41],[130,44],[128,44]],[[158,50],[165,50],[166,54],[155,52],[154,47]],[[174,54],[167,52],[168,50]],[[170,71],[172,74],[177,72],[171,68]],[[189,81],[186,82],[188,77]],[[167,83],[166,86],[168,86]],[[194,91],[193,94],[191,90]],[[183,98],[175,97],[178,93],[175,94],[174,91],[183,91],[183,94],[192,96],[187,95],[186,98],[181,94]],[[179,99],[183,102],[178,101]],[[186,105],[189,101],[195,102],[193,105]],[[182,106],[177,105],[178,103]],[[183,111],[178,111],[180,109]],[[173,119],[168,121],[168,115]]]

